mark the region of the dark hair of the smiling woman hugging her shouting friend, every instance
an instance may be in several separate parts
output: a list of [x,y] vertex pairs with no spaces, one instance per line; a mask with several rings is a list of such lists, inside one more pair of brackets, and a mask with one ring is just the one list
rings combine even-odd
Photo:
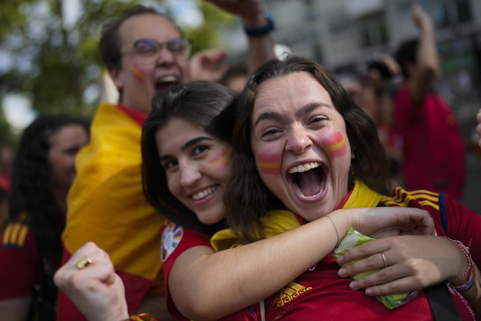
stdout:
[[147,201],[170,221],[209,235],[224,227],[223,221],[202,224],[195,213],[170,193],[160,164],[155,133],[169,119],[178,117],[230,142],[236,99],[237,95],[227,87],[208,81],[176,85],[165,94],[154,94],[152,111],[142,127],[142,186]]

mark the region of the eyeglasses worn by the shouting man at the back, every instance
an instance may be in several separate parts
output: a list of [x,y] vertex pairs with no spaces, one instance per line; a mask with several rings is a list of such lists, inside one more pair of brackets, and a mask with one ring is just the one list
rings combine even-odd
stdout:
[[168,51],[177,59],[187,59],[190,54],[189,39],[175,38],[169,42],[160,43],[151,39],[140,39],[131,44],[122,55],[133,54],[139,63],[153,63],[162,52],[165,46]]

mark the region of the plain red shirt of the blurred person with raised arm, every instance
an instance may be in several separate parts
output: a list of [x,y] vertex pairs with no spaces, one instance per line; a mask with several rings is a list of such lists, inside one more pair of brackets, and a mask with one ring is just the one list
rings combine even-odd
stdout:
[[403,139],[406,189],[445,192],[462,199],[464,145],[456,117],[446,101],[429,93],[416,105],[405,83],[395,98],[394,131]]

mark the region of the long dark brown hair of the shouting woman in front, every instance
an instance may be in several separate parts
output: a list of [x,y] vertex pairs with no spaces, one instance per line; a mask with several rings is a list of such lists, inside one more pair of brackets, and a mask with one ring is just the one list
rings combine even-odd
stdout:
[[[308,72],[326,89],[336,110],[346,123],[346,132],[355,153],[351,165],[357,179],[381,192],[387,184],[388,166],[376,126],[351,99],[336,76],[307,58],[288,56],[262,65],[250,77],[240,96],[233,130],[234,176],[225,192],[227,223],[243,242],[262,238],[260,217],[269,210],[284,208],[282,202],[267,189],[256,168],[251,148],[251,115],[258,86],[266,80],[295,72]],[[350,174],[349,186],[353,184]]]

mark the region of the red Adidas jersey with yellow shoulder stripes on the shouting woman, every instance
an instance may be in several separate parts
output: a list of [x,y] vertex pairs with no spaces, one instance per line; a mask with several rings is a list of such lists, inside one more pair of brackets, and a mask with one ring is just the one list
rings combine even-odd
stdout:
[[[424,209],[433,217],[438,235],[459,240],[465,245],[470,244],[474,262],[477,265],[481,263],[481,250],[479,250],[481,234],[478,233],[481,228],[481,216],[477,213],[465,208],[443,193],[407,192],[397,188],[392,195],[381,196],[365,186],[363,189],[356,189],[360,185],[362,183],[356,182],[354,190],[341,203],[342,208],[353,208],[351,207],[352,202],[356,201],[352,199],[360,200],[364,196],[366,202],[376,200],[371,206],[405,206]],[[362,191],[363,195],[359,191]],[[368,203],[363,202],[363,200],[357,201],[358,206],[355,207],[369,207]],[[291,214],[299,223],[297,226],[305,223],[296,214]],[[275,215],[271,217],[275,217]],[[283,220],[286,221],[285,215]],[[266,221],[264,221],[265,228],[266,230],[271,229],[271,231],[273,227],[276,228],[281,223],[273,221],[272,224],[266,225]],[[292,224],[291,229],[295,227]],[[278,234],[284,231],[279,230]],[[282,267],[274,267],[274,271],[277,268]],[[312,270],[304,272],[283,289],[265,299],[266,320],[275,320],[279,317],[282,317],[283,320],[433,320],[424,291],[420,291],[412,301],[389,310],[374,297],[367,296],[363,290],[351,290],[349,283],[352,280],[339,277],[338,270],[339,265],[334,262],[333,255],[329,254]],[[451,295],[461,318],[466,321],[471,320],[471,307],[464,305],[456,293],[453,292]],[[260,306],[260,304],[255,304],[251,307],[258,319],[261,319]],[[244,315],[248,315],[248,311],[244,310]]]

